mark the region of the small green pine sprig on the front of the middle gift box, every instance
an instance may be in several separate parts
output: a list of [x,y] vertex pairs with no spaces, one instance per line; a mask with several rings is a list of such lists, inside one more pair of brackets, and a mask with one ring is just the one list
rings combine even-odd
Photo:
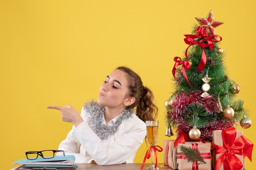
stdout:
[[189,162],[194,162],[195,160],[198,161],[197,165],[206,163],[204,159],[200,155],[200,151],[198,149],[193,150],[191,147],[180,146],[180,150],[182,154],[184,154]]

